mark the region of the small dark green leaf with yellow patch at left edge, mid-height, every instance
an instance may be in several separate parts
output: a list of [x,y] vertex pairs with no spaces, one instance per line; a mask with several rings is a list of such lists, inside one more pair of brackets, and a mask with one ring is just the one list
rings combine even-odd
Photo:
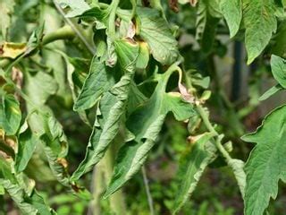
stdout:
[[19,101],[13,95],[1,95],[0,101],[0,129],[6,135],[17,133],[21,123],[21,109]]

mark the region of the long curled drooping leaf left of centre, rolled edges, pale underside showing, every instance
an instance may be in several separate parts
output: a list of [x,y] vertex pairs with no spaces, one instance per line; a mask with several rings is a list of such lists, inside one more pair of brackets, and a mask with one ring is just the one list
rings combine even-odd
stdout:
[[80,176],[92,170],[93,166],[105,155],[105,150],[119,131],[120,119],[124,113],[125,101],[130,89],[129,85],[130,76],[123,76],[121,82],[118,82],[113,88],[113,90],[121,90],[122,94],[114,94],[111,90],[100,99],[98,107],[100,113],[98,113],[99,116],[97,116],[88,141],[85,159],[73,172],[71,180],[78,180]]

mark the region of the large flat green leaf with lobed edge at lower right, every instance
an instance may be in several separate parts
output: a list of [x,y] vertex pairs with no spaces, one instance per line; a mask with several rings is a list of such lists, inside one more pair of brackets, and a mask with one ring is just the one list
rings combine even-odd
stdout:
[[256,142],[246,164],[245,214],[264,213],[270,197],[276,198],[278,182],[286,182],[286,106],[274,109],[265,117],[255,133],[242,137],[245,142]]

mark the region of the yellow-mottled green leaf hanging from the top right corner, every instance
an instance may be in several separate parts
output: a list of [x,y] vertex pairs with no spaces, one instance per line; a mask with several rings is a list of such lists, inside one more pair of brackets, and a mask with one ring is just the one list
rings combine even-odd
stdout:
[[245,26],[245,43],[248,52],[248,64],[260,55],[277,29],[275,13],[283,7],[275,0],[243,1],[243,22]]

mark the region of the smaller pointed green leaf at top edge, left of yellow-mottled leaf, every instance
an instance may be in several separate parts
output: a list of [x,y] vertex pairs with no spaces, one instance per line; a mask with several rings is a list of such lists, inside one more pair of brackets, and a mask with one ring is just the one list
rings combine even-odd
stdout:
[[240,30],[242,19],[241,0],[222,0],[221,11],[229,26],[231,38]]

